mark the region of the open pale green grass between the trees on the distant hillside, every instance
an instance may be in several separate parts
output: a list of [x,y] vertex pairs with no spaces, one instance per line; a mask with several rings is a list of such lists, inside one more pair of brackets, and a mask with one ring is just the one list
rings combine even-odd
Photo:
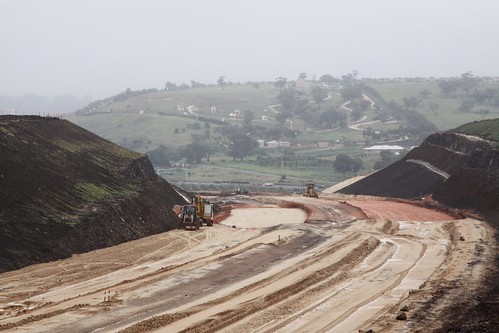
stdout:
[[[458,91],[456,97],[447,97],[442,94],[435,80],[392,80],[367,84],[374,88],[385,102],[393,100],[399,105],[403,104],[404,97],[418,97],[421,92],[426,92],[426,97],[422,99],[417,112],[435,124],[438,130],[448,130],[481,120],[484,116],[479,114],[478,110],[482,107],[488,110],[485,119],[499,117],[499,108],[491,105],[476,105],[471,112],[467,113],[458,111],[461,103],[467,99],[465,93]],[[309,86],[296,88],[301,93],[300,98],[312,100],[311,86],[312,84],[309,83]],[[483,83],[481,89],[485,88],[498,89],[499,83]],[[276,106],[279,103],[278,94],[279,89],[271,83],[261,83],[258,89],[253,84],[237,84],[227,85],[223,89],[218,86],[207,86],[174,91],[161,90],[138,94],[123,101],[114,101],[113,98],[109,98],[98,104],[90,113],[70,114],[67,119],[112,142],[141,153],[154,150],[161,145],[182,148],[191,143],[195,135],[209,137],[210,139],[205,139],[205,143],[211,142],[212,145],[217,146],[219,141],[222,141],[220,133],[215,131],[220,124],[236,126],[242,124],[242,115],[238,119],[229,118],[229,115],[236,110],[241,113],[252,111],[254,115],[252,124],[255,126],[277,125],[275,112],[272,109],[280,111],[280,106]],[[321,104],[320,110],[331,108],[340,110],[343,102],[338,91],[331,91],[329,98]],[[314,107],[314,103],[310,103]],[[430,108],[432,105],[434,110]],[[438,107],[435,108],[435,105]],[[216,112],[212,112],[212,107],[216,108]],[[320,110],[319,112],[322,112]],[[262,120],[262,116],[267,116],[268,120]],[[362,122],[368,122],[373,120],[376,113],[368,108],[364,116],[365,119]],[[221,123],[222,120],[223,123]],[[209,162],[203,160],[202,165],[191,165],[178,170],[168,169],[164,170],[162,175],[170,181],[182,183],[242,181],[258,185],[267,181],[290,184],[299,183],[303,179],[313,179],[318,183],[331,185],[353,176],[353,174],[334,172],[333,161],[338,154],[361,158],[364,166],[359,173],[362,174],[373,172],[374,163],[380,160],[379,155],[363,154],[362,149],[365,146],[381,142],[368,141],[362,131],[353,130],[347,126],[329,130],[310,128],[299,117],[293,118],[292,124],[286,123],[285,126],[292,127],[299,133],[294,139],[283,138],[291,142],[290,149],[294,151],[297,159],[320,159],[329,162],[317,167],[297,167],[296,165],[294,167],[278,165],[264,167],[257,164],[258,155],[262,152],[247,157],[244,161],[234,161],[226,154],[218,152],[211,156]],[[375,131],[385,131],[397,129],[399,126],[398,123],[372,123],[361,126],[361,129],[369,127]],[[321,141],[329,142],[330,146],[320,149],[318,142]],[[400,142],[391,144],[404,145]],[[412,144],[405,143],[406,146]],[[283,149],[265,149],[263,154],[266,158],[279,159],[284,156],[284,151]]]

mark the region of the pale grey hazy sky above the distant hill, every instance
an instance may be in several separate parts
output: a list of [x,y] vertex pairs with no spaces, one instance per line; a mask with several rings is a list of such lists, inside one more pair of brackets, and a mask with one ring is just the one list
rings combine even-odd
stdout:
[[497,0],[0,0],[0,95],[499,76]]

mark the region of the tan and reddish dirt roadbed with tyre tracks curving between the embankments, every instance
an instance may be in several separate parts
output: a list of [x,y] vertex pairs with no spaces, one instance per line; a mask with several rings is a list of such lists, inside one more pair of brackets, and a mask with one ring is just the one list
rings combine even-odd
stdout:
[[493,264],[480,220],[362,197],[238,199],[213,227],[0,274],[0,331],[445,332]]

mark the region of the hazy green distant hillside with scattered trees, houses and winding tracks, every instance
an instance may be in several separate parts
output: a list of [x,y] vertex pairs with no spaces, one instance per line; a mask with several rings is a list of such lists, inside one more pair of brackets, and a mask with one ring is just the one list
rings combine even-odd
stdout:
[[[324,77],[280,87],[261,82],[127,90],[67,118],[148,154],[157,168],[176,162],[176,168],[165,171],[173,182],[285,183],[307,177],[331,184],[370,173],[402,156],[366,155],[366,146],[410,148],[435,131],[499,117],[499,82],[470,73],[447,79]],[[355,123],[359,125],[352,128]],[[263,140],[267,146],[240,158],[231,147],[242,136],[255,144]],[[284,143],[270,148],[269,141]],[[361,168],[339,171],[334,166],[338,155],[360,160]],[[185,163],[187,171],[178,167]],[[221,171],[227,168],[232,171]],[[252,173],[255,170],[258,176]]]

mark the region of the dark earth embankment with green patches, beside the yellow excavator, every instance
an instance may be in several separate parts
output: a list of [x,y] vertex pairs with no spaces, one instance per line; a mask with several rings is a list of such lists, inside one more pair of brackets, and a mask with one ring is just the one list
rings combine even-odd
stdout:
[[183,198],[145,155],[68,121],[0,117],[0,272],[176,226]]

